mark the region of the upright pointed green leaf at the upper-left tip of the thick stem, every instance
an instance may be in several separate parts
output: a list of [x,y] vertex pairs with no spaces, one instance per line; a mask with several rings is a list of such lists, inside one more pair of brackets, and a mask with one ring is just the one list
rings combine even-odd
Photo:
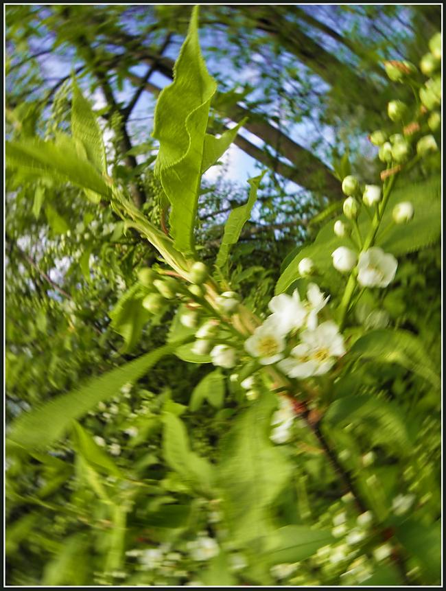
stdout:
[[74,78],[71,133],[75,141],[82,143],[88,161],[93,164],[98,172],[106,173],[107,163],[102,132],[90,103],[82,96],[82,92]]

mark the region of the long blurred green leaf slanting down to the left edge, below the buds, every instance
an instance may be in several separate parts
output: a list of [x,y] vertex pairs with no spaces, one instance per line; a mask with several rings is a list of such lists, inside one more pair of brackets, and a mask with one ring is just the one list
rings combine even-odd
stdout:
[[89,380],[84,386],[49,400],[30,413],[25,413],[10,426],[8,439],[24,448],[45,448],[60,439],[78,419],[104,400],[117,394],[127,382],[139,380],[163,356],[176,348],[176,343],[165,345],[145,354],[99,378]]

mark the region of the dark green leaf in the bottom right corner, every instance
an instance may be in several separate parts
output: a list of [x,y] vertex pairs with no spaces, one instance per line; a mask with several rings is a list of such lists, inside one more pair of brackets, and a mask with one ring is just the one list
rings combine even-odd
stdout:
[[423,525],[408,518],[397,526],[395,535],[406,551],[419,559],[429,583],[441,579],[441,522]]

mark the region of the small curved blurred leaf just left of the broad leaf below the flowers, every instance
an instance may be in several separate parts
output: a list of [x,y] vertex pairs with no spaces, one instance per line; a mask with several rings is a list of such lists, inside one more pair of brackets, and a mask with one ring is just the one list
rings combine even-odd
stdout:
[[163,454],[167,464],[191,487],[210,494],[213,487],[213,466],[192,452],[185,424],[172,413],[163,416]]

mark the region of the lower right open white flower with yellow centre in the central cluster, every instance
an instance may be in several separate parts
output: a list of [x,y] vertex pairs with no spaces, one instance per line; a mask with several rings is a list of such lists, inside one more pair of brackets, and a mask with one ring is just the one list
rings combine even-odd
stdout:
[[279,363],[290,378],[309,378],[322,375],[333,366],[335,357],[344,355],[344,339],[338,325],[332,321],[320,324],[314,330],[301,334],[302,342],[291,351],[291,356]]

